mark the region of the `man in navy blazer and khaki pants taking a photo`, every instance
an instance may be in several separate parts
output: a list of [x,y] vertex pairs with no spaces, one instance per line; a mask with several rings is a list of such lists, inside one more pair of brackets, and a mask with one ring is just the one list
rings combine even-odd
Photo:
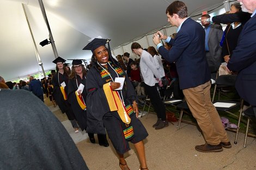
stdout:
[[[154,34],[153,42],[168,62],[175,62],[180,88],[187,104],[205,137],[205,144],[196,146],[199,152],[221,152],[231,148],[220,116],[211,102],[210,71],[205,58],[205,32],[203,27],[187,17],[185,3],[174,1],[166,9],[168,22],[178,27],[175,39],[161,32]],[[160,35],[160,38],[159,38]],[[173,45],[168,51],[160,39]]]

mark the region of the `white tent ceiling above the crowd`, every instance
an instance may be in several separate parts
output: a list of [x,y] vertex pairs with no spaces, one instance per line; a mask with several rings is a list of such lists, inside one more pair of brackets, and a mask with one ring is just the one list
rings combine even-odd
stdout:
[[[91,37],[111,39],[117,47],[136,37],[166,26],[170,0],[43,0],[58,55],[64,59],[89,59],[82,51]],[[188,13],[200,14],[223,0],[185,0]],[[25,13],[45,70],[55,67],[51,45],[39,43],[49,37],[37,0],[1,0],[0,75],[5,80],[19,79],[41,71]]]

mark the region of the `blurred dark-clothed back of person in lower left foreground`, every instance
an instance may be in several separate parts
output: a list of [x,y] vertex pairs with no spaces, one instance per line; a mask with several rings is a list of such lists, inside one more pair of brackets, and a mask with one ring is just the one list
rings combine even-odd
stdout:
[[62,123],[40,99],[25,90],[4,89],[0,98],[0,169],[88,169]]

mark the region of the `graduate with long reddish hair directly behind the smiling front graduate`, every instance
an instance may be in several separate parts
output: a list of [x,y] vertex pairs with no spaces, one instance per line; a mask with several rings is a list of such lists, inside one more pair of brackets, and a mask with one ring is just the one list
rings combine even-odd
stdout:
[[[82,60],[72,61],[72,70],[69,79],[68,100],[74,111],[76,120],[81,130],[86,130],[86,68],[82,65]],[[80,87],[78,89],[78,87]],[[95,143],[93,133],[88,133],[90,142]],[[99,144],[108,147],[106,134],[98,134]]]

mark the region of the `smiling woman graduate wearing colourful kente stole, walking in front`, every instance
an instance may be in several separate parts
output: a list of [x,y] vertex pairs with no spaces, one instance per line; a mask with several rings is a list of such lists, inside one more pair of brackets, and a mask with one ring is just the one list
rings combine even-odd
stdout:
[[[83,49],[91,50],[92,68],[87,73],[87,131],[105,133],[105,127],[119,156],[121,169],[129,169],[124,153],[135,144],[141,166],[148,169],[143,140],[148,136],[138,117],[137,95],[127,74],[105,47],[106,39],[94,39]],[[115,78],[125,78],[122,90]]]

